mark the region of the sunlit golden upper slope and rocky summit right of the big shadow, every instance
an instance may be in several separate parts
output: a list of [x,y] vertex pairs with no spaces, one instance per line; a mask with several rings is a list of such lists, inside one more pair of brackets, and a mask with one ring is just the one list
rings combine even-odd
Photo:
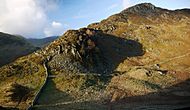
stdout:
[[[89,25],[89,28],[139,41],[146,49],[142,60],[149,56],[148,61],[139,62],[142,65],[161,63],[189,52],[188,12],[188,9],[185,12],[171,11],[145,3],[126,9],[98,24]],[[170,63],[173,62],[168,62]],[[179,62],[176,63],[180,66]],[[184,63],[189,65],[188,61]],[[176,65],[171,65],[170,69],[176,70]]]

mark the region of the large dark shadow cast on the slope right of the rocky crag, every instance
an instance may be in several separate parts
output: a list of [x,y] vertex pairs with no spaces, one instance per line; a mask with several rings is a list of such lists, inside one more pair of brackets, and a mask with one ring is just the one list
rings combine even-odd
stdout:
[[128,57],[144,54],[143,45],[135,40],[127,40],[103,32],[98,32],[94,36],[94,40],[101,52],[100,59],[94,59],[94,62],[98,64],[98,62],[103,61],[102,64],[95,65],[96,68],[100,68],[99,73],[102,73],[102,70],[103,73],[112,73]]

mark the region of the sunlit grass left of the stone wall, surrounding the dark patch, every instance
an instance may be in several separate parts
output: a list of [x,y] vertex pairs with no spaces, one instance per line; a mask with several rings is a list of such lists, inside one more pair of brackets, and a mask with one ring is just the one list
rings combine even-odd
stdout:
[[[18,59],[16,62],[0,68],[0,105],[15,106],[17,103],[8,100],[6,89],[12,83],[18,83],[22,86],[31,88],[31,95],[26,101],[21,102],[19,109],[25,109],[33,100],[33,96],[43,84],[45,79],[45,69],[43,65],[33,62],[31,59],[37,56],[26,56]],[[30,60],[28,59],[30,58]]]

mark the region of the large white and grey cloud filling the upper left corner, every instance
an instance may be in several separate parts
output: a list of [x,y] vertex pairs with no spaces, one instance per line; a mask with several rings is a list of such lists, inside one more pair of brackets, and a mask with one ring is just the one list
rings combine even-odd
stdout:
[[53,0],[1,0],[0,31],[25,37],[43,37],[49,21],[47,12],[54,9],[56,2]]

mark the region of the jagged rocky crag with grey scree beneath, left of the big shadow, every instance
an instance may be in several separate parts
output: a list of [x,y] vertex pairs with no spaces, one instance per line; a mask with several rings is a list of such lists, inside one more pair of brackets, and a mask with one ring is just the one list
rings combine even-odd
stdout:
[[85,72],[86,69],[93,72],[103,71],[103,56],[96,42],[98,33],[96,30],[87,28],[66,32],[52,44],[57,45],[55,50],[57,52],[53,52],[57,54],[50,61],[52,69],[67,69],[75,72]]

